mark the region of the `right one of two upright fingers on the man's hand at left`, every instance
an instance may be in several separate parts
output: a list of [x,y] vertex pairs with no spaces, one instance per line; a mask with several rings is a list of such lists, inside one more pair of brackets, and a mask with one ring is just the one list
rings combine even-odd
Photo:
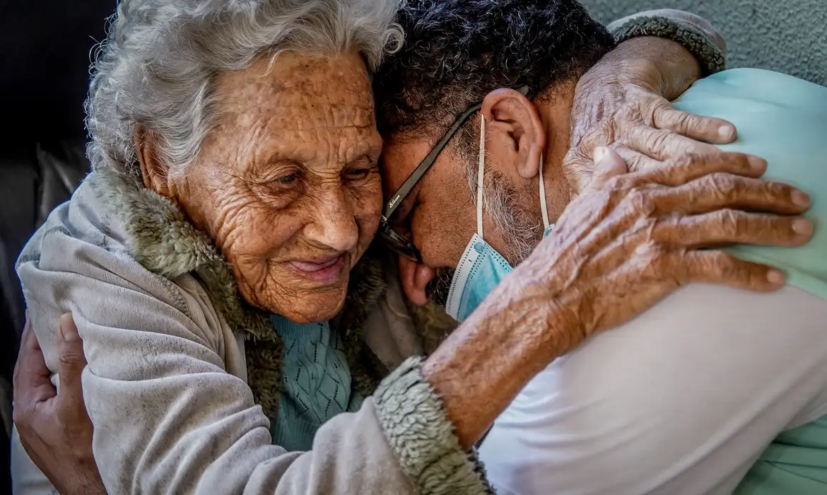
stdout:
[[64,411],[86,414],[81,375],[86,367],[84,342],[78,334],[71,313],[60,317],[57,337],[58,376],[60,376],[60,393],[58,407]]

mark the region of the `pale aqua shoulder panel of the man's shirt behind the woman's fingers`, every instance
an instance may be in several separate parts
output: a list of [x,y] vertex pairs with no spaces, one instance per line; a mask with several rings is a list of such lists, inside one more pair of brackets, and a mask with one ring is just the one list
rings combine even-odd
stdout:
[[769,162],[767,179],[807,191],[806,213],[815,225],[801,247],[736,246],[734,255],[782,268],[794,286],[827,299],[827,88],[769,70],[724,70],[701,79],[675,107],[725,118],[738,127],[738,140],[722,146]]

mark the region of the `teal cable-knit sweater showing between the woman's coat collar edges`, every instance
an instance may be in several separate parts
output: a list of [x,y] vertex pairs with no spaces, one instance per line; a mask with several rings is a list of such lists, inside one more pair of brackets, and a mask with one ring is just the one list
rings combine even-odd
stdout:
[[318,427],[344,411],[355,411],[361,397],[351,390],[342,340],[327,322],[299,324],[270,316],[284,340],[279,411],[273,443],[289,451],[309,450]]

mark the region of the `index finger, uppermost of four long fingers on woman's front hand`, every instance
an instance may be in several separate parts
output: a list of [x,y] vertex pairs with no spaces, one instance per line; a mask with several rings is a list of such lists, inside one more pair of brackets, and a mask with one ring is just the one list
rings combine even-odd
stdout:
[[767,171],[767,161],[760,156],[733,151],[687,153],[674,160],[657,163],[660,166],[635,174],[629,180],[634,180],[635,184],[654,182],[677,186],[715,173],[760,177]]

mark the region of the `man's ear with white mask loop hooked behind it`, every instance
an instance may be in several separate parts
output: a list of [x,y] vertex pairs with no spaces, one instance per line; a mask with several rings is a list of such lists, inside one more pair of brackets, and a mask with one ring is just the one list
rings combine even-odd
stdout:
[[485,95],[481,112],[490,142],[486,154],[495,163],[513,163],[523,179],[538,175],[546,132],[531,100],[514,89],[495,89]]

